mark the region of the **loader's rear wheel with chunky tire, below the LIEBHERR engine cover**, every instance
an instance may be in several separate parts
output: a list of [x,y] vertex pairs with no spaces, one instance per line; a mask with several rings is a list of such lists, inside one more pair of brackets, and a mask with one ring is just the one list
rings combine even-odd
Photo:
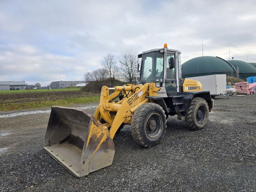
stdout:
[[191,100],[190,107],[186,111],[185,123],[191,130],[204,129],[209,118],[209,108],[206,100],[195,97]]

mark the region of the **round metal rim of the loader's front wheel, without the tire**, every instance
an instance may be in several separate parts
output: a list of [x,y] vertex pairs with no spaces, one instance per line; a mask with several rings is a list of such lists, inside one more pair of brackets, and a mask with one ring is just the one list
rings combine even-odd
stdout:
[[161,117],[156,113],[151,114],[146,122],[146,133],[148,137],[156,138],[159,134],[161,126]]

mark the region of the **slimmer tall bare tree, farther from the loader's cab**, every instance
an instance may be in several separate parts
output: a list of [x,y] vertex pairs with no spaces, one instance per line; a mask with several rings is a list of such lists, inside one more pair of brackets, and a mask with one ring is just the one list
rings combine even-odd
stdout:
[[110,78],[110,82],[112,83],[118,74],[116,56],[112,53],[108,53],[106,56],[103,57],[100,63],[107,70],[108,77]]

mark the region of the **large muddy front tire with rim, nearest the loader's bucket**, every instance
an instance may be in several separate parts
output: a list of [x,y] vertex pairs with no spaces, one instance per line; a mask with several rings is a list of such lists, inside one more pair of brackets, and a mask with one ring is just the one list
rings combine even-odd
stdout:
[[133,140],[143,147],[153,147],[164,137],[166,116],[162,107],[146,103],[138,107],[132,116]]

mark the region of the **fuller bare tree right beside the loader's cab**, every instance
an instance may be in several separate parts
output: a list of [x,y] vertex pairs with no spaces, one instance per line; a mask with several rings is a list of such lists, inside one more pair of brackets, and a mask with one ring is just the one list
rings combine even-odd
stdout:
[[121,52],[121,55],[118,58],[120,63],[120,72],[130,83],[132,83],[137,75],[137,57],[137,52],[130,49]]

